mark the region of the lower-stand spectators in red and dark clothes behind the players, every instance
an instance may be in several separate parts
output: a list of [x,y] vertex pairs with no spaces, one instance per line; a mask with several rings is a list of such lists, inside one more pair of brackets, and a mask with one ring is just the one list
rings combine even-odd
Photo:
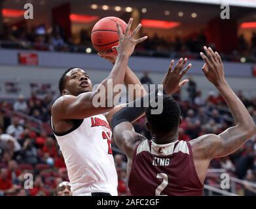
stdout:
[[[148,74],[141,78],[143,84],[151,84]],[[179,92],[174,98],[181,106],[183,122],[179,127],[179,140],[189,141],[208,133],[219,134],[233,125],[232,116],[221,95],[209,92],[206,99],[190,80],[187,89],[189,97],[183,101]],[[256,98],[246,98],[242,92],[238,97],[256,123]],[[68,181],[62,152],[50,129],[34,125],[24,118],[32,116],[49,127],[52,97],[39,99],[35,93],[30,98],[20,95],[16,101],[0,101],[0,196],[1,195],[54,195],[60,182]],[[145,129],[145,118],[134,123],[138,133],[148,139],[151,135]],[[47,127],[47,126],[45,126]],[[112,142],[115,166],[118,174],[119,195],[129,195],[127,186],[126,157]],[[211,161],[210,168],[226,169],[230,175],[256,183],[256,141],[249,140],[237,152]],[[27,173],[33,174],[33,188],[27,185]],[[206,178],[207,184],[216,184],[215,178]],[[24,185],[27,185],[25,188]],[[256,195],[251,187],[241,188],[246,195]]]

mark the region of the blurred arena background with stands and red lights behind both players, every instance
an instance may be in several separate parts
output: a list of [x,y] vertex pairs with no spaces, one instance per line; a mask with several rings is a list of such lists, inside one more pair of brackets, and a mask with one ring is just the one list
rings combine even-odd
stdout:
[[[233,124],[215,88],[204,78],[199,52],[217,50],[227,81],[256,122],[256,1],[227,0],[230,19],[220,18],[219,0],[5,0],[0,1],[0,196],[55,195],[68,181],[62,153],[50,130],[50,108],[65,69],[80,67],[99,84],[111,63],[96,54],[92,27],[105,16],[134,25],[141,36],[129,65],[143,84],[160,84],[171,59],[187,57],[190,82],[174,98],[181,105],[181,140],[219,134]],[[33,5],[33,20],[24,19],[24,5]],[[136,131],[151,138],[145,119]],[[112,144],[119,175],[119,195],[130,195],[126,157]],[[236,153],[211,162],[205,195],[256,195],[256,143],[252,138]],[[24,189],[24,174],[32,173],[33,189]],[[221,174],[230,174],[229,189],[221,189]]]

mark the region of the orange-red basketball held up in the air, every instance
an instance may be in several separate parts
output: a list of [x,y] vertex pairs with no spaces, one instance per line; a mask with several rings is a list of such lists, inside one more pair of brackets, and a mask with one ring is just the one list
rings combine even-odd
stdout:
[[103,54],[111,56],[112,47],[119,44],[119,35],[117,33],[117,22],[119,22],[122,33],[125,32],[127,24],[124,20],[117,17],[105,17],[99,20],[92,28],[91,40],[94,48]]

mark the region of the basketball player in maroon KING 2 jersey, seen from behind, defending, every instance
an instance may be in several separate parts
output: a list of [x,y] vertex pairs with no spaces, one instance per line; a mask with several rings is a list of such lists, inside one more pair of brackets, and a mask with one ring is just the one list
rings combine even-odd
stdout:
[[[204,46],[204,50],[206,55],[200,53],[205,62],[202,71],[224,97],[235,125],[219,135],[203,135],[190,142],[179,140],[181,110],[166,86],[164,95],[156,98],[163,102],[161,114],[151,114],[151,106],[119,110],[113,117],[113,137],[128,157],[128,186],[132,195],[202,195],[211,159],[235,152],[256,134],[249,112],[225,80],[221,57],[211,48]],[[174,79],[175,71],[171,67],[168,72],[170,76],[174,74]],[[172,79],[169,81],[172,83]],[[136,133],[132,126],[132,121],[144,110],[151,141]]]

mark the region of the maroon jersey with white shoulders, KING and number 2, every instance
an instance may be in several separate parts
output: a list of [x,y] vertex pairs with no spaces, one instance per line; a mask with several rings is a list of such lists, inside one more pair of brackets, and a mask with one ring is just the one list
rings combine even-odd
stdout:
[[136,147],[128,182],[131,195],[202,195],[192,157],[185,141],[155,144],[145,140]]

